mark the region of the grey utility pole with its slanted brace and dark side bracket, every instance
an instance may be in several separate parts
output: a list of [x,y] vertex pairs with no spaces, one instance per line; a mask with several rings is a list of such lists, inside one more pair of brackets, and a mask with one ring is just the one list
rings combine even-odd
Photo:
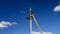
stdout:
[[30,20],[30,34],[32,34],[32,19],[34,19],[34,21],[35,21],[35,23],[36,23],[36,25],[37,25],[37,27],[38,27],[38,29],[40,31],[40,34],[43,34],[43,32],[42,32],[42,30],[41,30],[41,28],[40,28],[40,26],[39,26],[39,24],[38,24],[38,22],[37,22],[37,20],[36,20],[36,18],[34,16],[34,14],[32,12],[32,9],[30,8],[29,11],[30,11],[30,15],[28,17],[26,17],[26,18]]

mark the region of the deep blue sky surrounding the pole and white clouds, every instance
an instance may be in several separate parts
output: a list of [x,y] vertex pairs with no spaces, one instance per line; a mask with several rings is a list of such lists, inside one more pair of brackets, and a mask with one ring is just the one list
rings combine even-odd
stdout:
[[[0,0],[0,22],[16,22],[17,24],[0,29],[0,34],[29,34],[29,8],[44,32],[60,34],[60,12],[53,9],[60,0]],[[33,22],[33,31],[39,31]]]

